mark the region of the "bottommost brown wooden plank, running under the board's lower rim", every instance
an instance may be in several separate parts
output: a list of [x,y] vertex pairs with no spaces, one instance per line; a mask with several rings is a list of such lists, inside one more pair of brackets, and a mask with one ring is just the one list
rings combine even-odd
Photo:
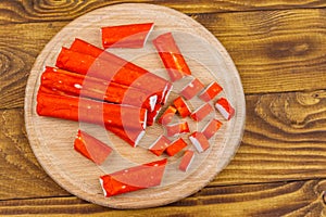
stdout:
[[326,180],[205,188],[168,206],[115,210],[76,197],[0,201],[0,215],[24,216],[325,216]]

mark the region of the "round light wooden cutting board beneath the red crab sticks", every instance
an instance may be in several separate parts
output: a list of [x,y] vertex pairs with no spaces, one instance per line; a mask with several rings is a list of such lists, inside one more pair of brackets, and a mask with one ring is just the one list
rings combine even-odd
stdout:
[[[40,75],[45,66],[54,66],[62,47],[70,47],[75,38],[101,47],[100,28],[131,23],[153,22],[153,33],[143,49],[112,49],[117,55],[131,61],[159,76],[166,77],[159,55],[151,40],[162,33],[173,33],[192,75],[204,85],[216,80],[223,88],[221,95],[227,98],[236,110],[230,120],[224,120],[215,112],[210,118],[217,118],[223,126],[210,140],[210,149],[196,153],[196,161],[187,173],[178,170],[180,156],[168,158],[162,184],[131,193],[104,197],[99,176],[130,166],[160,159],[146,148],[153,138],[164,133],[161,126],[149,127],[147,136],[137,148],[123,142],[112,133],[97,126],[40,117],[36,113],[36,95]],[[167,105],[178,94],[179,84],[174,85]],[[190,102],[191,107],[200,101]],[[241,141],[246,117],[246,103],[238,72],[220,41],[203,26],[175,10],[142,3],[126,3],[102,8],[87,13],[65,26],[43,49],[30,72],[25,97],[25,122],[33,151],[51,178],[62,188],[86,201],[114,208],[142,208],[168,204],[186,197],[208,184],[231,159]],[[210,120],[191,124],[190,129],[199,130]],[[114,149],[101,166],[83,157],[73,149],[78,128],[87,128],[96,138]],[[185,138],[187,140],[187,138]],[[188,141],[188,140],[187,140]],[[191,144],[188,141],[191,149]],[[167,155],[165,156],[167,157]],[[161,157],[162,158],[162,157]]]

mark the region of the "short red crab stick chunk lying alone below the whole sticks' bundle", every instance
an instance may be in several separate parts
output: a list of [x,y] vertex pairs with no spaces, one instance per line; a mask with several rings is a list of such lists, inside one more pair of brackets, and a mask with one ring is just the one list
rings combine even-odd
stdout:
[[74,149],[97,165],[101,165],[112,152],[109,145],[82,130],[77,132]]

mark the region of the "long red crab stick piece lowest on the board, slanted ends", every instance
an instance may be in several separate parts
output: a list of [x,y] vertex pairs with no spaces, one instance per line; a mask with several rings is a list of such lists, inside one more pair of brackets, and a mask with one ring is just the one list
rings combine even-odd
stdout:
[[104,196],[110,197],[161,184],[167,159],[115,171],[100,177]]

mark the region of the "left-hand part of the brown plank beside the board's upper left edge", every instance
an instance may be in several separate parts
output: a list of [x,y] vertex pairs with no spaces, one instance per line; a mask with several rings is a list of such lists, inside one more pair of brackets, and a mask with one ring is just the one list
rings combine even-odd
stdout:
[[1,25],[0,108],[23,107],[36,56],[65,23]]

